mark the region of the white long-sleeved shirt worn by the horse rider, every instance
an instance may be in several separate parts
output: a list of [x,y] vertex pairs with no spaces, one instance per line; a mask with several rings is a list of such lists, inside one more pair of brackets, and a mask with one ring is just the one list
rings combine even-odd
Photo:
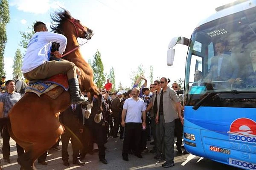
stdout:
[[67,38],[64,35],[47,31],[36,32],[27,46],[21,71],[27,73],[49,61],[52,42],[60,44],[59,53],[63,54],[67,45]]

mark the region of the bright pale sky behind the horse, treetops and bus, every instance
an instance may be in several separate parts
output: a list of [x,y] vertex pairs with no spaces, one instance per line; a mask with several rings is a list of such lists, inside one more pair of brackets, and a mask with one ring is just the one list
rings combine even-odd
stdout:
[[[233,0],[9,0],[11,20],[7,25],[4,54],[7,79],[12,79],[12,65],[19,31],[28,31],[35,20],[50,24],[50,14],[59,6],[92,29],[94,36],[81,47],[86,61],[99,49],[108,74],[114,68],[116,84],[131,85],[131,72],[143,64],[149,79],[153,66],[154,79],[184,79],[186,46],[175,51],[175,65],[166,65],[166,52],[172,37],[190,37],[200,20],[215,13],[215,8]],[[202,8],[203,7],[203,8]]]

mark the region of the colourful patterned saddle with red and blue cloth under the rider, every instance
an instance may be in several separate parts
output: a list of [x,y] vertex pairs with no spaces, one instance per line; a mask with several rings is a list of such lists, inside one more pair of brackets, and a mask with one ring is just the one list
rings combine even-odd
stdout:
[[32,92],[41,96],[45,94],[52,99],[56,99],[64,90],[68,91],[69,85],[67,74],[57,74],[48,79],[30,81],[30,85],[25,88],[25,94]]

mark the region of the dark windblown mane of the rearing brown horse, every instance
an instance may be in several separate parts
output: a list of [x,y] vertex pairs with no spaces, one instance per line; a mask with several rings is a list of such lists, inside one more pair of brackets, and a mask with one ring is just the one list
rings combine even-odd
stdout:
[[63,34],[62,31],[62,23],[66,19],[72,19],[72,16],[69,11],[65,10],[64,8],[61,8],[61,11],[57,11],[53,14],[51,14],[51,29],[53,32],[58,34]]

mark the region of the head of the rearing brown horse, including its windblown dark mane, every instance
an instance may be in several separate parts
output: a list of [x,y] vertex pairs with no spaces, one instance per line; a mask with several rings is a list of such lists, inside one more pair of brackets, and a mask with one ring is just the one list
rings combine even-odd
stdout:
[[87,40],[90,40],[93,36],[93,31],[91,29],[82,25],[80,20],[73,18],[70,12],[65,9],[52,14],[51,19],[55,22],[51,24],[51,28],[56,33],[65,34],[65,31],[73,32],[76,37]]

